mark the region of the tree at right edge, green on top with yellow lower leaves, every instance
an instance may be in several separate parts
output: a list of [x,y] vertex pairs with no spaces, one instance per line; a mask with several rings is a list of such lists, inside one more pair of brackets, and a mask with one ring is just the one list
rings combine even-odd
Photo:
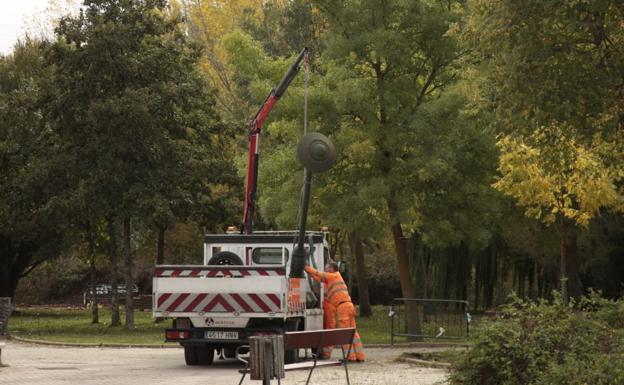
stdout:
[[560,278],[571,279],[570,294],[578,296],[577,232],[601,209],[621,210],[624,5],[471,5],[467,37],[477,54],[482,108],[504,134],[496,187],[527,215],[557,226]]

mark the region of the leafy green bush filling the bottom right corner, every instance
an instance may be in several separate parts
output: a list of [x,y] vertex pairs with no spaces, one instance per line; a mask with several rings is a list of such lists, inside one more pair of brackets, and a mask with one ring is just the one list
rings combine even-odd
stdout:
[[[564,307],[514,299],[460,357],[452,385],[624,384],[624,307],[594,295]],[[615,327],[617,326],[617,327]]]

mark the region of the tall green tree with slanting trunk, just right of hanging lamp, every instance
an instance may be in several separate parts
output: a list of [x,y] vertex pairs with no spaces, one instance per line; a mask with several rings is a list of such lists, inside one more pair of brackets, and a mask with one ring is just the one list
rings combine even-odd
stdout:
[[361,178],[380,185],[376,196],[394,240],[402,294],[414,298],[406,231],[431,245],[489,237],[482,219],[467,213],[487,211],[480,193],[493,152],[487,131],[470,123],[462,93],[450,87],[463,54],[463,8],[432,1],[319,4],[328,20],[326,57],[335,67],[328,84],[344,121],[367,138],[370,166]]

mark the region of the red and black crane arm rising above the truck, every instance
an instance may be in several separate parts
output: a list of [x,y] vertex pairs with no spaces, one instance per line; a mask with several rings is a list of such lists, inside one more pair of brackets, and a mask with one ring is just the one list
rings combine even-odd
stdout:
[[258,185],[258,162],[260,159],[260,131],[269,112],[275,106],[275,103],[286,92],[290,82],[299,72],[301,62],[308,57],[309,50],[304,48],[297,56],[295,62],[290,66],[284,74],[282,80],[277,87],[273,88],[262,106],[249,123],[249,158],[247,160],[247,184],[245,187],[245,207],[243,209],[243,224],[241,233],[251,234],[253,232],[253,216],[256,208],[256,188]]

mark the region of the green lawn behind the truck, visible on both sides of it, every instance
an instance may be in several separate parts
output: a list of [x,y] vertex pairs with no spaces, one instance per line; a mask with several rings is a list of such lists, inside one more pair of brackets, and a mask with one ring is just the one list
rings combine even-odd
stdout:
[[[71,343],[88,344],[154,344],[161,345],[164,329],[171,325],[167,320],[154,323],[151,312],[134,313],[134,330],[123,326],[110,326],[111,313],[100,309],[100,323],[91,323],[91,310],[84,308],[30,307],[19,309],[11,316],[9,332],[19,337]],[[124,321],[123,307],[121,314]],[[373,316],[358,318],[358,331],[364,344],[390,343],[390,317],[388,308],[374,306]],[[396,337],[395,342],[405,341]]]

